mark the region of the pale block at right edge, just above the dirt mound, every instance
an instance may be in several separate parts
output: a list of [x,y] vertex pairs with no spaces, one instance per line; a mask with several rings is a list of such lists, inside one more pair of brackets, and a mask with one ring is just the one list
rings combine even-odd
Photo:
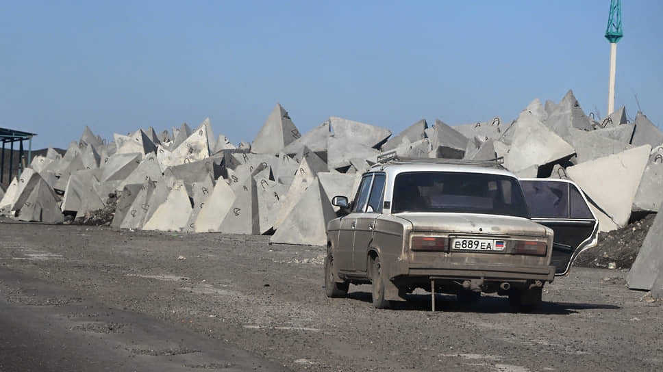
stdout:
[[663,203],[663,144],[649,154],[647,168],[642,173],[640,187],[633,201],[634,211],[658,211]]

